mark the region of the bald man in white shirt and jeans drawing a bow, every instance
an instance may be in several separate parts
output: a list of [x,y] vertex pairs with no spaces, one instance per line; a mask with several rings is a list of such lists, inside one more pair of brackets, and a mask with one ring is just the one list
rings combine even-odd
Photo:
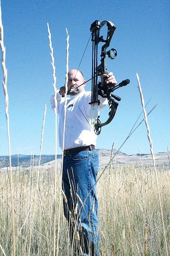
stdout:
[[[109,87],[116,85],[112,72],[101,76],[101,84],[105,79]],[[82,85],[81,85],[82,84]],[[78,85],[81,85],[77,88]],[[75,255],[98,256],[98,202],[96,195],[96,175],[99,160],[95,150],[97,135],[90,122],[91,92],[85,92],[86,81],[83,74],[76,69],[68,72],[64,160],[63,191],[67,202],[63,203],[64,216],[69,223],[69,235]],[[56,93],[57,113],[59,121],[59,145],[63,147],[64,102],[62,98],[65,87]],[[107,99],[99,96],[102,110]],[[54,94],[51,96],[52,109],[55,107]],[[90,193],[89,193],[90,192]],[[84,202],[84,204],[83,204]]]

